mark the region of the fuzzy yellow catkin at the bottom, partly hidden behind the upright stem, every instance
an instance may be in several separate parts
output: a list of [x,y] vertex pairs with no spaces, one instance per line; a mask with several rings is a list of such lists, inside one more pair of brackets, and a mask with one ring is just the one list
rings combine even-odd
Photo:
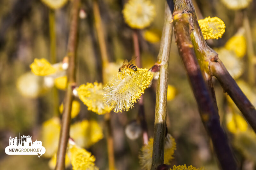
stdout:
[[[150,138],[147,145],[142,146],[139,154],[140,166],[142,169],[149,170],[152,163],[153,153],[153,138]],[[169,164],[173,159],[174,150],[176,150],[176,143],[170,134],[167,134],[164,143],[164,164]]]

